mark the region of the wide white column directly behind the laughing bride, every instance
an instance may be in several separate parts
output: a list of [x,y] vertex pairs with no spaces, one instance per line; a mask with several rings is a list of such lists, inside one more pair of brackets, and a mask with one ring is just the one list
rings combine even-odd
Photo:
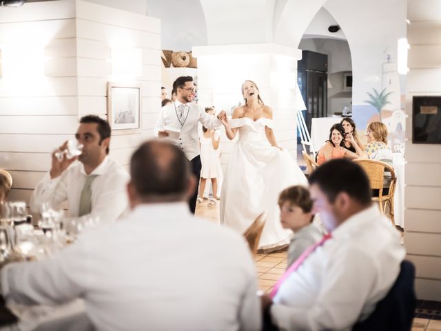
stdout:
[[[302,52],[275,43],[198,46],[198,103],[231,110],[243,104],[241,86],[249,79],[256,83],[265,105],[273,109],[274,133],[278,145],[296,158],[297,61]],[[225,165],[232,144],[223,137],[221,163]]]

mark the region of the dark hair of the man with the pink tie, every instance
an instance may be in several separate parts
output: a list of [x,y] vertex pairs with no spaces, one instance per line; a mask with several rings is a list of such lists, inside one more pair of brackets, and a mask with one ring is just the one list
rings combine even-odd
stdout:
[[330,203],[334,203],[340,192],[346,192],[362,205],[371,203],[367,174],[353,161],[334,159],[323,163],[311,173],[309,184],[318,185]]

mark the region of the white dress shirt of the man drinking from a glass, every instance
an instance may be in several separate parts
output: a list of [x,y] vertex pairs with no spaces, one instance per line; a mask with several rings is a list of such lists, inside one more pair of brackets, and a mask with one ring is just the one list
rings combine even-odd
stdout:
[[[116,221],[128,207],[126,184],[130,179],[129,174],[121,165],[105,157],[90,175],[97,177],[92,181],[92,210],[88,215],[99,217],[103,222]],[[60,203],[68,201],[70,216],[78,217],[81,191],[86,176],[84,165],[79,161],[72,163],[57,178],[50,179],[48,172],[32,193],[31,210],[39,212],[42,203],[50,203],[57,207]]]

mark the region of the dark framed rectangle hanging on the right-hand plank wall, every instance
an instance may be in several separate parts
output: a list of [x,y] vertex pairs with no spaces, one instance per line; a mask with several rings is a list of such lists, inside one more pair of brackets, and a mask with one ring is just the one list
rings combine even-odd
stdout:
[[441,96],[413,97],[412,143],[441,143]]

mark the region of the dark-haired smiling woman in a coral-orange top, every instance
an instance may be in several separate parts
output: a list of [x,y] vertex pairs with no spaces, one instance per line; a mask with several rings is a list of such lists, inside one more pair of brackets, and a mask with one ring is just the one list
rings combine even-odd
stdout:
[[356,153],[343,148],[345,145],[345,129],[340,123],[334,124],[329,130],[329,140],[320,148],[317,157],[317,164],[322,165],[331,159],[358,159]]

